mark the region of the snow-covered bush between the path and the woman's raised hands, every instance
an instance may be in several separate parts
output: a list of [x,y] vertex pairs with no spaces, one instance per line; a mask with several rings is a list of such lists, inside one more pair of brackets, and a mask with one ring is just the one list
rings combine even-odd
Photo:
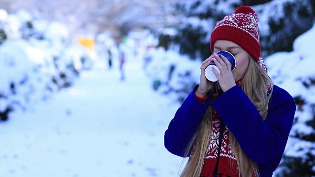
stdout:
[[161,47],[151,51],[150,58],[145,70],[153,80],[152,87],[183,102],[187,93],[199,82],[200,63]]

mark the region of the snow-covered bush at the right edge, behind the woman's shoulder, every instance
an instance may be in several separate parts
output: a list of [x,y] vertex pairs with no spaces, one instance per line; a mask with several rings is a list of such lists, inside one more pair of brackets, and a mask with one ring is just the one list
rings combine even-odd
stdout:
[[293,43],[292,52],[266,58],[274,83],[295,99],[297,111],[277,177],[315,176],[315,24]]

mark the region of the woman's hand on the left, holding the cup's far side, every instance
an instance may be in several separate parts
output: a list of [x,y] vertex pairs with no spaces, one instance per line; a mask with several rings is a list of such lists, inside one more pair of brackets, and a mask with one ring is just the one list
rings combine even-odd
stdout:
[[214,58],[215,54],[211,55],[208,59],[202,61],[199,87],[195,92],[195,94],[201,98],[204,98],[214,85],[214,82],[209,81],[205,76],[205,69],[214,60]]

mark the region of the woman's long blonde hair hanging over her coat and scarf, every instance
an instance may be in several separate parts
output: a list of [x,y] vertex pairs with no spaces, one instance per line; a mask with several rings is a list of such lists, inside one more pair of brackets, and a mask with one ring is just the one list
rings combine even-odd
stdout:
[[[268,102],[272,93],[272,90],[270,94],[267,92],[268,83],[271,83],[271,79],[251,56],[249,56],[249,60],[248,69],[240,86],[250,98],[253,105],[257,108],[261,117],[265,119],[268,111]],[[218,88],[215,84],[212,92],[214,93],[217,90]],[[209,138],[212,137],[212,131],[212,106],[210,104],[203,116],[199,129],[196,131],[186,148],[186,156],[189,156],[192,148],[193,154],[189,157],[189,161],[180,177],[200,177]],[[243,152],[231,131],[229,131],[229,143],[231,144],[236,157],[239,172],[238,176],[259,177],[257,164],[249,159]]]

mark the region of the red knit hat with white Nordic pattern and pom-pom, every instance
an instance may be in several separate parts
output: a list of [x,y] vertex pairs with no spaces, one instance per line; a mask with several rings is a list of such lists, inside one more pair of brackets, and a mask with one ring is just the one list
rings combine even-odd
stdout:
[[258,61],[260,57],[259,28],[255,11],[249,6],[240,6],[234,14],[226,15],[223,20],[217,22],[211,34],[212,53],[217,40],[229,40],[236,43]]

